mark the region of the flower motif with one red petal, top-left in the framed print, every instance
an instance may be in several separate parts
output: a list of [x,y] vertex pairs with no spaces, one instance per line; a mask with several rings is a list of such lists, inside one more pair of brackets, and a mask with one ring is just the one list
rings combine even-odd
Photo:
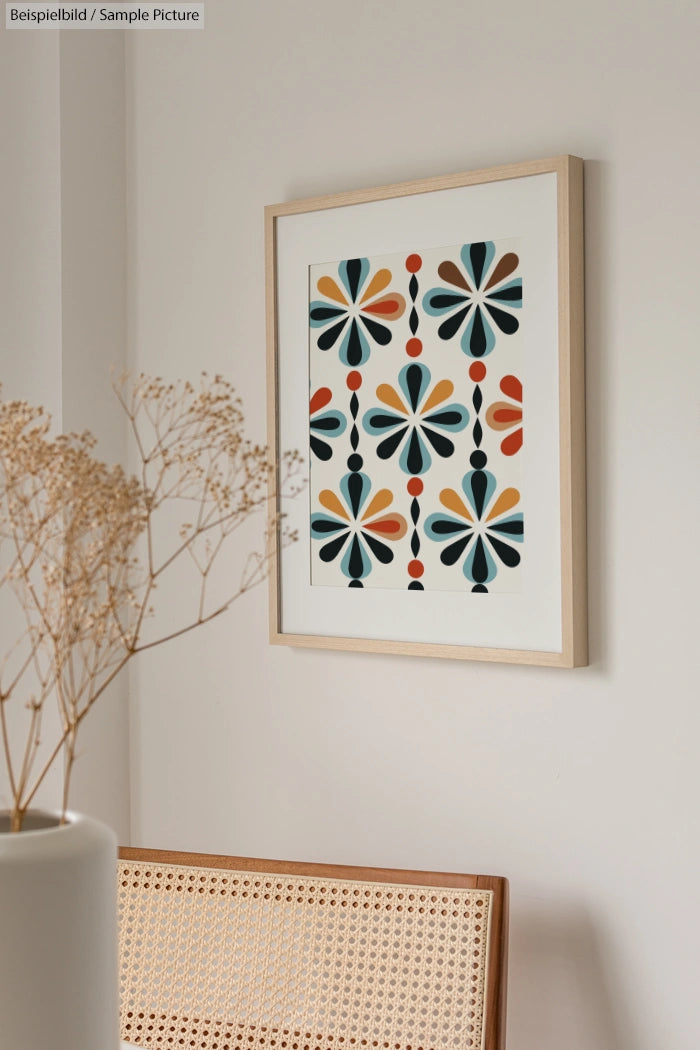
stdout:
[[340,360],[356,369],[369,357],[369,339],[380,346],[391,341],[391,330],[382,321],[395,321],[406,309],[406,300],[398,292],[384,292],[391,281],[391,271],[378,270],[369,276],[369,260],[345,259],[338,267],[342,287],[327,275],[317,282],[323,300],[310,306],[312,328],[321,328],[316,345],[330,350],[342,336]]

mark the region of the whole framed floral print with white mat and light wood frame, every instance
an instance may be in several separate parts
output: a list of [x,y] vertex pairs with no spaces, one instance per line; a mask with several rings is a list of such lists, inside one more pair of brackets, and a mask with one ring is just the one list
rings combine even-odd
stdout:
[[270,206],[271,640],[587,663],[582,162]]

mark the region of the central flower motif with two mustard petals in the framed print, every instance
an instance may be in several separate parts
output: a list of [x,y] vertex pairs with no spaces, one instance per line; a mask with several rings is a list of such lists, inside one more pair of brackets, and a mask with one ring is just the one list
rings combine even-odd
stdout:
[[402,448],[399,465],[404,474],[425,474],[432,462],[428,444],[443,459],[451,456],[454,445],[446,434],[463,430],[469,413],[463,404],[445,404],[454,393],[454,383],[441,379],[430,388],[430,372],[424,364],[402,369],[399,387],[380,383],[377,397],[387,407],[370,408],[362,425],[367,434],[383,438],[377,445],[380,459],[390,459]]

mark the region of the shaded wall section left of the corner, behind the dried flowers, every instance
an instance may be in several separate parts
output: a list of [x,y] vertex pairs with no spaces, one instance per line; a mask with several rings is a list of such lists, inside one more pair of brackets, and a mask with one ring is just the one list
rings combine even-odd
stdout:
[[[109,387],[126,348],[124,76],[121,32],[0,29],[0,383],[5,397],[43,404],[57,428],[89,427],[108,461],[124,460],[126,445]],[[10,615],[3,605],[0,656]],[[57,732],[49,711],[47,748]],[[125,677],[85,722],[70,798],[122,839],[128,764]],[[36,802],[61,798],[57,766]],[[0,770],[0,808],[7,802]]]

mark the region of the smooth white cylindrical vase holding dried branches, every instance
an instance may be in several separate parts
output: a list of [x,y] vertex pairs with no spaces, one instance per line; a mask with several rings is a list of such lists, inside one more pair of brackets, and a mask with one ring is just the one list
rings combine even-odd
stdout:
[[0,1047],[116,1050],[116,839],[76,813],[0,814]]

